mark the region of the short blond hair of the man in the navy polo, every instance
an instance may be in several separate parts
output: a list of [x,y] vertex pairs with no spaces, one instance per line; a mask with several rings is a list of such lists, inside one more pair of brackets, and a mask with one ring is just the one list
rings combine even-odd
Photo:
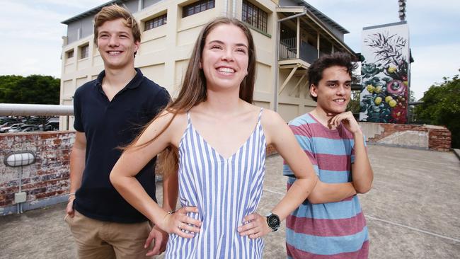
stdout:
[[113,4],[103,7],[99,13],[94,16],[94,43],[96,45],[98,45],[98,28],[106,21],[114,21],[120,18],[123,19],[125,26],[131,29],[134,42],[141,42],[141,31],[139,30],[139,24],[136,19],[134,19],[130,11],[126,8]]

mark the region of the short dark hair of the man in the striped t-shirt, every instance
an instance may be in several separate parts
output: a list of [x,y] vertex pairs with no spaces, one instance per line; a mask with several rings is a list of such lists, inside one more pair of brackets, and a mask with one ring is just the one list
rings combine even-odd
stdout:
[[[345,67],[347,73],[352,76],[352,70],[357,68],[357,64],[352,63],[352,57],[350,54],[345,52],[334,52],[333,54],[326,54],[319,59],[316,59],[313,64],[309,67],[309,87],[312,84],[318,86],[319,81],[323,79],[323,71],[329,67]],[[310,97],[316,102],[318,98],[311,96]]]

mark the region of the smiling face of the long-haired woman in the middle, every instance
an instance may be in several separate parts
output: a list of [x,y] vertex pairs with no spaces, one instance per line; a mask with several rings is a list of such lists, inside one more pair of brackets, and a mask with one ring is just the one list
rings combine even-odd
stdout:
[[248,38],[233,24],[217,25],[206,37],[200,68],[208,90],[238,89],[248,74]]

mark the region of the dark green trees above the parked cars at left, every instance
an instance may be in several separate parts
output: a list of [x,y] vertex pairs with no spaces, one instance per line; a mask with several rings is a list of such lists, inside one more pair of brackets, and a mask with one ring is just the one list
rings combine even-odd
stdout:
[[0,76],[0,103],[59,104],[59,85],[52,76]]

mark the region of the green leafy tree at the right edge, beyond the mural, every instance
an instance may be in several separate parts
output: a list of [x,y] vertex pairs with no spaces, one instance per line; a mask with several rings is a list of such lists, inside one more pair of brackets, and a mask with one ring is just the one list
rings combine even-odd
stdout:
[[[460,69],[459,69],[460,71]],[[420,122],[444,125],[452,132],[452,147],[460,148],[460,78],[444,77],[442,84],[435,84],[425,92],[422,105],[415,108]]]

